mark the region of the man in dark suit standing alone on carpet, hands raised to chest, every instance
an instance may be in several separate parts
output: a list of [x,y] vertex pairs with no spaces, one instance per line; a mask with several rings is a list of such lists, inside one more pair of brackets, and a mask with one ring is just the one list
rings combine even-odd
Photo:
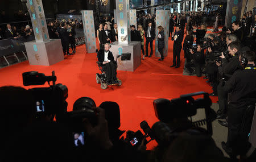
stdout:
[[179,68],[180,67],[180,51],[182,48],[183,33],[181,32],[180,25],[177,25],[176,31],[172,32],[172,40],[174,40],[174,64],[171,67]]

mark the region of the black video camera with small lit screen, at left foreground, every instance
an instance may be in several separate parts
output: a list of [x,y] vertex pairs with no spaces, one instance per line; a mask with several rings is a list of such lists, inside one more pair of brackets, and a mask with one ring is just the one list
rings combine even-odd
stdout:
[[56,119],[59,114],[67,111],[68,103],[65,99],[68,98],[68,88],[63,84],[55,84],[57,77],[55,72],[52,71],[52,76],[46,76],[43,73],[36,71],[22,73],[23,85],[44,85],[46,82],[51,82],[47,88],[32,88],[28,89],[34,96],[35,111],[40,118],[42,114],[55,114]]

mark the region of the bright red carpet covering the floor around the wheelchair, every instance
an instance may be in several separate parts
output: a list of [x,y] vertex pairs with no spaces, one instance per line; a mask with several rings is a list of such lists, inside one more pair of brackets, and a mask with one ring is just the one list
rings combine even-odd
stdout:
[[[153,44],[153,47],[155,45]],[[169,41],[168,56],[164,61],[158,57],[146,57],[135,72],[118,71],[118,78],[122,86],[109,86],[103,90],[96,83],[96,73],[99,73],[96,64],[96,53],[86,53],[85,45],[77,47],[73,56],[50,67],[29,65],[28,61],[0,69],[0,86],[23,86],[22,73],[36,70],[47,76],[55,70],[57,82],[68,87],[68,111],[72,110],[73,103],[80,97],[91,97],[97,106],[103,101],[115,101],[121,109],[121,130],[137,131],[141,129],[139,123],[146,120],[151,127],[158,121],[154,114],[152,101],[155,98],[177,98],[181,94],[205,91],[212,93],[211,87],[203,77],[183,76],[184,53],[181,50],[181,67],[170,68],[172,65],[173,41]],[[110,48],[111,51],[111,48]],[[46,87],[47,84],[42,86]],[[35,86],[27,86],[34,88]],[[217,97],[212,97],[213,102]],[[143,132],[143,131],[142,131]],[[155,142],[148,144],[151,149]]]

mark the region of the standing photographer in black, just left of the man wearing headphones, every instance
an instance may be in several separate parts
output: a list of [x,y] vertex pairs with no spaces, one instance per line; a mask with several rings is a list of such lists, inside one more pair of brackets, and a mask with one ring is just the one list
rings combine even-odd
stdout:
[[[225,82],[230,78],[230,76],[233,75],[233,73],[236,70],[241,69],[240,61],[239,61],[239,52],[241,49],[241,45],[237,41],[233,41],[229,43],[228,45],[228,51],[229,55],[232,56],[230,61],[225,58],[225,56],[220,56],[222,61],[216,62],[216,65],[218,66],[218,72],[222,76],[222,80],[220,81],[220,84],[218,84],[217,92],[218,92],[218,105],[219,109],[217,111],[217,119],[225,119],[226,118],[226,104],[227,104],[227,98],[228,94],[224,90],[224,84]],[[223,79],[224,78],[224,79]]]

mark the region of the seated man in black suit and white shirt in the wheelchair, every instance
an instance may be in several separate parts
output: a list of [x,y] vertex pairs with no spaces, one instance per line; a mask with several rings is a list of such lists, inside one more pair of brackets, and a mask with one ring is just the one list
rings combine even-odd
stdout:
[[115,84],[117,79],[117,62],[114,60],[113,53],[109,51],[110,44],[104,44],[104,50],[100,49],[97,53],[98,64],[102,67],[102,72],[106,74],[106,84]]

